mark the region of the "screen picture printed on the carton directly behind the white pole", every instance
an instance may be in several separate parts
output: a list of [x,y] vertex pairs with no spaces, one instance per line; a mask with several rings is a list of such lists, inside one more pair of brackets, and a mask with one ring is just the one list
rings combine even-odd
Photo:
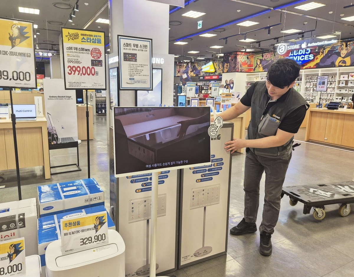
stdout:
[[[159,194],[157,216],[166,215],[166,193]],[[151,196],[130,199],[128,208],[129,223],[151,219]]]

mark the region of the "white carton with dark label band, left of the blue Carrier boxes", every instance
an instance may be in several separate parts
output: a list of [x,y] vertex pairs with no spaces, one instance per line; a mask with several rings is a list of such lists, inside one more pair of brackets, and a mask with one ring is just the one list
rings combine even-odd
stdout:
[[0,242],[25,239],[26,254],[38,255],[37,201],[35,198],[0,203]]

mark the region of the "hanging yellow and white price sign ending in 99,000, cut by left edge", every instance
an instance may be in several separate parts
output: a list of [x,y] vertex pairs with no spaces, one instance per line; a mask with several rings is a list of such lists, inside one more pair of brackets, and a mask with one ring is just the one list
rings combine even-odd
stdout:
[[33,22],[0,18],[0,87],[37,88]]

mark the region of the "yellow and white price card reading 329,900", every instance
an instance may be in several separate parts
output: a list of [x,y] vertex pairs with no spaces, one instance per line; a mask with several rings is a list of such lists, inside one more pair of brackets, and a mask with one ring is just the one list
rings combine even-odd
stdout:
[[108,243],[107,213],[99,212],[60,220],[62,254]]

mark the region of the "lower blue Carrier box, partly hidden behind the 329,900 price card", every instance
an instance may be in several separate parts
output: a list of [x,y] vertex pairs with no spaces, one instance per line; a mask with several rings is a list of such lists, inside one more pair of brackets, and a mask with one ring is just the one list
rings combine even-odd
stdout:
[[[91,207],[82,210],[70,211],[62,214],[43,216],[38,219],[38,254],[41,257],[42,274],[45,276],[45,250],[47,246],[58,239],[60,236],[60,220],[70,217],[83,216],[87,214],[99,213],[106,211],[103,205]],[[115,230],[115,225],[107,213],[108,229]],[[26,247],[27,249],[27,247]]]

